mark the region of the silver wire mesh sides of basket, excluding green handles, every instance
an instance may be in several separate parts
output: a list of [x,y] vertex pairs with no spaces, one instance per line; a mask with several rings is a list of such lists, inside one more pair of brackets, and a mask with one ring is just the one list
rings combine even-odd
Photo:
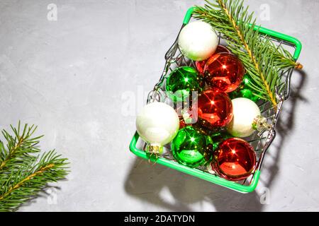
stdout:
[[[184,25],[182,26],[182,28],[183,27]],[[220,34],[218,34],[218,37],[220,42],[221,41]],[[187,59],[186,57],[183,56],[183,54],[181,54],[181,52],[179,51],[177,40],[178,40],[178,36],[174,44],[172,45],[172,47],[170,47],[167,53],[165,54],[166,62],[165,62],[164,70],[162,72],[162,76],[159,79],[159,82],[155,85],[154,90],[152,90],[151,92],[152,95],[156,93],[157,95],[161,96],[162,101],[169,99],[167,98],[167,95],[165,94],[165,89],[164,89],[164,84],[166,82],[167,76],[169,76],[169,73],[171,73],[172,71],[174,71],[174,69],[180,66],[192,66],[196,68],[194,61]],[[289,42],[284,42],[283,40],[276,40],[272,38],[272,41],[276,43],[278,47],[279,46],[291,47],[291,44]],[[290,79],[291,79],[292,72],[293,72],[293,69],[280,72],[281,82],[279,83],[279,87],[276,88],[277,90],[276,98],[278,99],[279,103],[276,106],[276,108],[272,107],[272,104],[268,101],[259,100],[259,102],[257,102],[259,109],[262,112],[262,116],[265,117],[268,123],[271,124],[272,126],[271,126],[271,129],[269,129],[268,131],[262,131],[262,132],[255,131],[250,137],[245,138],[245,140],[252,145],[257,155],[256,169],[261,169],[262,162],[264,160],[264,154],[266,153],[267,149],[272,144],[272,141],[274,141],[274,137],[276,136],[276,131],[275,131],[276,122],[279,119],[279,114],[281,112],[281,107],[284,103],[284,100],[286,100],[289,97]],[[175,161],[172,153],[169,150],[169,147],[167,147],[167,149],[168,151],[162,157],[166,158],[167,160]],[[214,174],[218,176],[217,174],[215,174],[215,172],[213,172],[212,169],[209,169],[209,167],[198,167],[198,169],[202,170],[203,172],[208,172],[210,174]],[[249,185],[251,184],[253,177],[254,177],[254,173],[247,179],[237,183],[240,183],[243,185]]]

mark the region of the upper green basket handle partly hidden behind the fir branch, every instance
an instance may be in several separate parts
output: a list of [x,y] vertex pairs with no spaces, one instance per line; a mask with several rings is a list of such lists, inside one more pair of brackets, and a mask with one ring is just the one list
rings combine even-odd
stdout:
[[[186,25],[187,23],[189,23],[189,20],[191,20],[191,16],[194,12],[195,7],[191,7],[189,8],[189,10],[186,12],[186,15],[184,17],[183,20],[183,24]],[[293,59],[296,61],[301,53],[301,49],[302,49],[302,44],[299,40],[297,40],[295,37],[291,37],[289,35],[285,35],[279,32],[276,32],[274,30],[269,30],[267,28],[262,28],[260,26],[254,26],[254,30],[259,30],[259,32],[261,32],[264,35],[268,35],[270,37],[275,37],[279,40],[284,40],[286,42],[289,42],[291,44],[293,44],[294,47],[296,47],[295,52],[293,53]]]

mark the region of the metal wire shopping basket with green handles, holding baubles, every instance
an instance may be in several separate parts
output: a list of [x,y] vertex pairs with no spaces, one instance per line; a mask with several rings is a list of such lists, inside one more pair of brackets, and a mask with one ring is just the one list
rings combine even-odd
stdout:
[[[186,16],[183,21],[183,25],[181,28],[189,23],[191,20],[192,13],[194,8],[189,8],[186,13]],[[258,27],[259,32],[262,35],[267,35],[271,37],[272,40],[279,46],[281,45],[285,49],[293,49],[293,59],[296,61],[301,52],[301,42],[299,42],[296,38],[291,37],[289,35],[284,35],[274,30],[269,30],[267,28]],[[178,40],[178,37],[177,37]],[[164,71],[162,73],[159,82],[155,85],[154,90],[150,92],[148,95],[147,101],[152,101],[152,99],[156,99],[160,95],[160,91],[162,90],[163,83],[169,73],[179,66],[194,66],[194,61],[186,59],[182,56],[181,52],[179,51],[177,40],[175,40],[172,47],[169,48],[167,53],[165,54],[166,63],[164,66]],[[242,193],[248,193],[254,191],[259,181],[260,170],[262,168],[262,162],[264,160],[264,155],[269,148],[269,145],[272,144],[274,138],[276,136],[276,123],[279,119],[279,114],[282,109],[282,105],[285,100],[288,99],[290,95],[290,82],[291,82],[291,75],[293,73],[293,68],[281,71],[281,84],[279,85],[276,90],[276,97],[279,99],[279,103],[276,106],[276,109],[272,107],[269,102],[259,102],[259,108],[262,111],[262,115],[267,118],[270,124],[272,124],[271,129],[268,131],[261,132],[254,132],[252,136],[247,138],[247,141],[254,147],[255,153],[257,155],[257,167],[254,170],[254,173],[245,180],[240,182],[231,182],[226,179],[219,177],[217,174],[212,172],[211,170],[207,169],[206,167],[198,167],[198,168],[191,168],[184,165],[179,164],[174,160],[172,153],[168,150],[164,155],[157,158],[156,163],[160,165],[164,165],[166,167],[170,167],[172,169],[177,169],[180,172],[184,172],[186,174],[190,174],[194,177],[198,177],[204,179],[208,182],[212,182],[214,184],[219,184],[220,186],[225,186],[228,189],[233,189],[235,191],[239,191]],[[139,135],[135,132],[135,135],[130,142],[130,151],[137,155],[138,157],[142,157],[144,159],[149,159],[149,155],[145,153],[143,148],[138,148],[138,140]]]

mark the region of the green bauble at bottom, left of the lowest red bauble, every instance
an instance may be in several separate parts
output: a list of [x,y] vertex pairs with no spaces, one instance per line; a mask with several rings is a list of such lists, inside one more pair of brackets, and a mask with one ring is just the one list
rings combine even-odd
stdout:
[[171,148],[177,162],[188,167],[199,167],[211,161],[213,141],[194,127],[187,126],[179,130]]

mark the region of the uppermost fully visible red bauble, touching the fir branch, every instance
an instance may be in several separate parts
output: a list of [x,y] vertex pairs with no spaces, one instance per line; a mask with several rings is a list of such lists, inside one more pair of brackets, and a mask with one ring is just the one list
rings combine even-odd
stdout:
[[242,83],[245,67],[238,57],[222,52],[213,54],[204,66],[204,80],[215,91],[230,93]]

